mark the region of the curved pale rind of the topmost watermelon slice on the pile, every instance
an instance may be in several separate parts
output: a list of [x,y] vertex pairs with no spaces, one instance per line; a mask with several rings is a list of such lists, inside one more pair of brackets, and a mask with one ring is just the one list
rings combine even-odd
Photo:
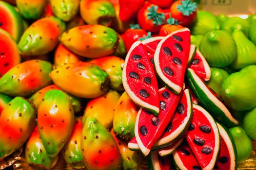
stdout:
[[[170,81],[168,78],[166,78],[160,68],[160,64],[159,64],[159,52],[161,49],[161,45],[163,44],[163,42],[165,42],[166,39],[168,39],[170,36],[177,34],[179,32],[185,32],[185,31],[189,31],[188,28],[182,28],[179,29],[169,35],[167,35],[165,38],[163,38],[159,44],[158,47],[156,49],[156,52],[154,54],[154,67],[155,67],[155,71],[156,74],[158,75],[159,80],[162,82],[163,85],[165,85],[166,87],[168,87],[169,89],[171,89],[175,94],[179,94],[180,91],[182,90],[182,86],[176,85],[174,84],[172,81]],[[189,31],[190,32],[190,31]]]

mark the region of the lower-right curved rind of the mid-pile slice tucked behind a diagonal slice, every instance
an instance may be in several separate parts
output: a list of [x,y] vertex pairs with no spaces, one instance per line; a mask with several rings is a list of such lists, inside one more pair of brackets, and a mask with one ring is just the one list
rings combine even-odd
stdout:
[[[163,149],[166,148],[168,146],[170,146],[172,143],[176,142],[177,140],[179,140],[188,130],[190,122],[192,120],[193,114],[192,114],[192,100],[191,100],[191,95],[188,89],[184,90],[183,95],[186,94],[187,97],[187,101],[188,101],[188,108],[186,113],[190,115],[187,116],[186,120],[184,120],[184,123],[182,124],[183,126],[180,126],[178,129],[176,129],[171,135],[169,136],[165,136],[164,138],[159,139],[155,145],[153,146],[153,150],[157,150],[157,149]],[[175,135],[174,135],[175,134]]]

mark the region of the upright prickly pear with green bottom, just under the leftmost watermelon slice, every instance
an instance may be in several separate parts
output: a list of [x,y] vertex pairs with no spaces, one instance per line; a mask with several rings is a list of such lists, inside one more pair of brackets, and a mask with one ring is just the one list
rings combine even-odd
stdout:
[[139,106],[129,98],[126,92],[123,92],[115,107],[113,118],[113,129],[118,138],[128,141],[135,136],[134,127],[138,109]]

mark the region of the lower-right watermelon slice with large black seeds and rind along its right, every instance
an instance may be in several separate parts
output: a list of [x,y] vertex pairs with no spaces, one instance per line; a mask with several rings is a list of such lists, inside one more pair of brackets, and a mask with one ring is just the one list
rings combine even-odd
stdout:
[[219,132],[212,116],[197,104],[193,104],[193,118],[186,139],[202,170],[213,170],[220,146]]

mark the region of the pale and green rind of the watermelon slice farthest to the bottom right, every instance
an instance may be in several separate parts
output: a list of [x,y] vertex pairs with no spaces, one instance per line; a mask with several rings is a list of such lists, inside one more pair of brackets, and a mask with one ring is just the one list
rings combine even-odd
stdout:
[[230,167],[230,170],[236,170],[237,169],[237,167],[236,167],[237,166],[237,152],[236,152],[236,145],[235,145],[235,141],[233,139],[233,136],[229,132],[228,128],[225,127],[224,125],[222,125],[221,123],[217,122],[217,126],[218,126],[220,136],[222,136],[222,138],[227,143],[227,146],[229,146],[228,147],[229,153],[234,153],[233,155],[230,155],[230,157],[233,158],[233,160],[234,160],[233,161],[234,164],[233,164],[233,166]]

